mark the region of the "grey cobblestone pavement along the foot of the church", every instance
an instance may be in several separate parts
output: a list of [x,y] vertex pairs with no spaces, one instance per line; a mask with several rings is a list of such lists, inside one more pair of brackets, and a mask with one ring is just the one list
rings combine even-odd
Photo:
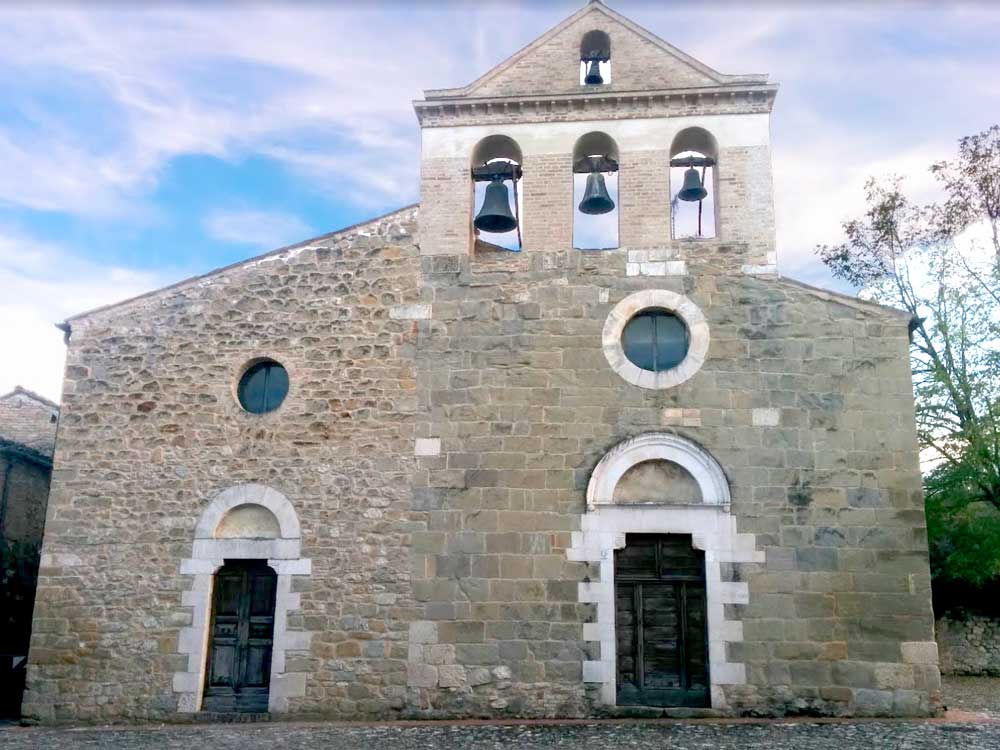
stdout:
[[0,728],[0,750],[996,750],[1000,723],[338,726],[212,724],[121,729]]

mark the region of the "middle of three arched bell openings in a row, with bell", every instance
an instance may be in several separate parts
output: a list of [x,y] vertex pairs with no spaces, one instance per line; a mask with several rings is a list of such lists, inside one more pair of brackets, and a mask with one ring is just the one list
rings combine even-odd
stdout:
[[580,136],[573,147],[573,247],[618,247],[618,144],[606,133]]

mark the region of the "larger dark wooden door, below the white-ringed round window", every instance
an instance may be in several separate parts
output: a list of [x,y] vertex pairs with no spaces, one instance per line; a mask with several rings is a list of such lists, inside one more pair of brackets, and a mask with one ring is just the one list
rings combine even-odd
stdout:
[[708,706],[705,553],[680,534],[628,534],[615,552],[618,704]]

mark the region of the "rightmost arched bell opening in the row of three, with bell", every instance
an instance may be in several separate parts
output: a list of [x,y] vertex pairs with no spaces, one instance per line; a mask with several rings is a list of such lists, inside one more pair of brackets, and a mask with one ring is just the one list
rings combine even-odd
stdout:
[[718,161],[715,137],[686,128],[670,146],[670,234],[674,239],[717,237]]

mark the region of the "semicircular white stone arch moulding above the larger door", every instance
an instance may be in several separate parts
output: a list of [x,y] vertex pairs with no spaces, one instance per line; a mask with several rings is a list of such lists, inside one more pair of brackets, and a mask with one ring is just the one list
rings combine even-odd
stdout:
[[708,451],[679,435],[651,432],[618,443],[598,462],[587,485],[587,509],[613,504],[615,487],[625,472],[643,461],[657,459],[687,469],[698,483],[703,505],[730,504],[726,474]]

